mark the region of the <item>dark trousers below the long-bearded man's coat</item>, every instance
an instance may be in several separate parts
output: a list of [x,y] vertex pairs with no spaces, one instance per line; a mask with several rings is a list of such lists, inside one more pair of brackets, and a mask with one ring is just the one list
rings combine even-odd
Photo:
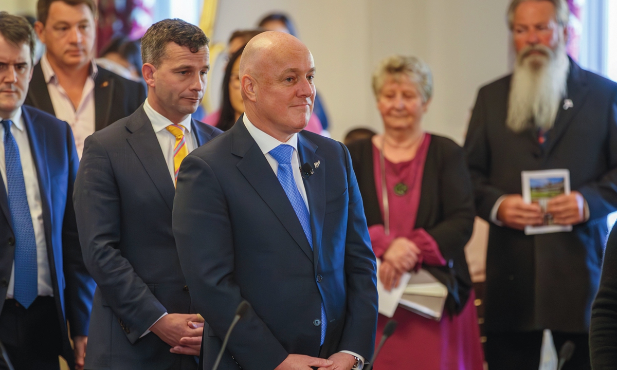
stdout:
[[[590,370],[589,335],[553,332],[557,355],[561,346],[571,340],[576,346],[563,370]],[[542,332],[503,332],[486,334],[484,356],[489,370],[537,370],[540,366]]]

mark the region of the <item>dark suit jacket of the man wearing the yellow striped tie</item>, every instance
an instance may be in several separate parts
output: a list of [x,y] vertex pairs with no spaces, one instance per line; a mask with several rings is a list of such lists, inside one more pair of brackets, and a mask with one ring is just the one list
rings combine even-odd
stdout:
[[[222,131],[193,120],[201,145]],[[75,181],[75,213],[88,271],[97,282],[86,368],[195,369],[155,334],[166,311],[191,297],[172,234],[175,188],[143,106],[89,136]]]

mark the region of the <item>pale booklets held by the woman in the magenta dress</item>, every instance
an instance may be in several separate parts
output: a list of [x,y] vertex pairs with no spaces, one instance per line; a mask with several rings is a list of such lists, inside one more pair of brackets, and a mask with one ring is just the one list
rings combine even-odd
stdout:
[[[377,271],[381,261],[377,260]],[[399,285],[387,291],[377,274],[379,313],[388,318],[401,306],[425,318],[439,321],[444,311],[448,289],[425,269],[404,273]]]

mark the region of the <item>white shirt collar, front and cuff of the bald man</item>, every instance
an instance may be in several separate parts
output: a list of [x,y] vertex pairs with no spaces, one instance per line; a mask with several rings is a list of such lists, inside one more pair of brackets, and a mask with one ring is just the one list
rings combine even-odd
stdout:
[[[302,181],[302,173],[300,173],[300,154],[298,153],[298,134],[295,133],[289,138],[287,142],[278,141],[278,139],[273,138],[267,133],[259,130],[259,128],[255,127],[249,120],[249,117],[246,116],[246,113],[242,115],[242,122],[244,122],[244,126],[246,126],[246,130],[249,130],[249,134],[251,134],[252,138],[257,142],[257,146],[262,150],[263,155],[265,155],[268,163],[270,163],[270,167],[274,174],[278,176],[278,162],[274,157],[270,155],[270,150],[275,149],[275,147],[280,146],[281,144],[287,144],[294,148],[294,154],[291,156],[291,169],[294,172],[294,180],[296,181],[296,186],[298,187],[298,191],[300,191],[300,195],[304,200],[304,204],[307,206],[307,210],[309,210],[309,199],[307,198],[307,191],[304,188],[304,181]],[[364,364],[364,358],[357,353],[352,351],[341,351],[343,353],[348,353],[349,355],[355,356],[360,359],[360,364],[358,365],[358,369],[361,369]],[[355,368],[354,368],[355,369]]]

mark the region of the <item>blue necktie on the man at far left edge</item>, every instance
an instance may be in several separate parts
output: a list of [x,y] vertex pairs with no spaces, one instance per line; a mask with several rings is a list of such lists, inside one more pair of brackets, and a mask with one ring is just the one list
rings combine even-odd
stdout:
[[9,209],[15,232],[15,290],[14,297],[25,308],[38,295],[38,266],[36,265],[35,229],[23,181],[22,161],[15,138],[10,133],[12,121],[3,120],[4,159],[9,193]]

